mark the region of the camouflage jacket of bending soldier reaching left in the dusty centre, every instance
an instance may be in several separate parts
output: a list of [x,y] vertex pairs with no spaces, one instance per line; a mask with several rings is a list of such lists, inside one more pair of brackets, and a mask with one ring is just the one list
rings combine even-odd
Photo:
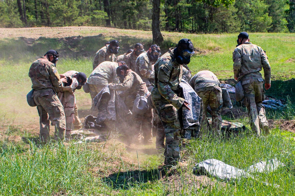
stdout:
[[[128,97],[134,101],[137,94],[144,96],[148,92],[148,88],[142,81],[140,76],[131,69],[127,70],[127,75],[121,84],[109,84],[109,88],[115,91],[123,91],[121,96]],[[127,104],[131,106],[130,104]]]

